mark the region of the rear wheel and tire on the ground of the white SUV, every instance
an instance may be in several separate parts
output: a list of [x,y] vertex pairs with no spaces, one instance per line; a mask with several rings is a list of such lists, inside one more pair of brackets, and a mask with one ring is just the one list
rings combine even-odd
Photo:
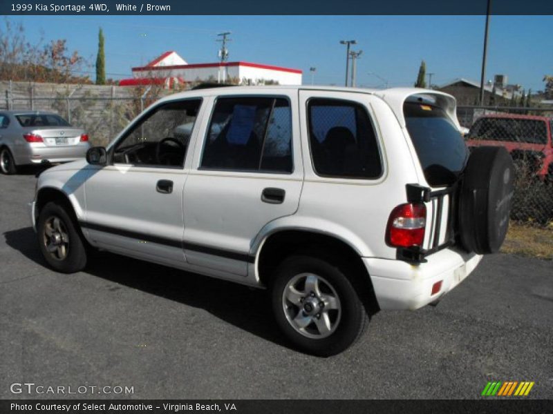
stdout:
[[272,308],[281,330],[298,348],[322,357],[354,344],[368,322],[344,270],[317,257],[292,256],[280,264]]

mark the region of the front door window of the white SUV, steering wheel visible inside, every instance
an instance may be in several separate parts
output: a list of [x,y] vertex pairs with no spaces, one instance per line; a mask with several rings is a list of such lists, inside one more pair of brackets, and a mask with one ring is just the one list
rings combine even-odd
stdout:
[[201,99],[164,103],[147,113],[120,139],[115,164],[182,167]]

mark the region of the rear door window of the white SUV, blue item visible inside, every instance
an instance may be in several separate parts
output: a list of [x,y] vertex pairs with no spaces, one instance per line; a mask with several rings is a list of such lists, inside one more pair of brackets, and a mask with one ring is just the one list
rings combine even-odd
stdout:
[[200,167],[292,172],[292,118],[288,100],[219,98],[205,137]]

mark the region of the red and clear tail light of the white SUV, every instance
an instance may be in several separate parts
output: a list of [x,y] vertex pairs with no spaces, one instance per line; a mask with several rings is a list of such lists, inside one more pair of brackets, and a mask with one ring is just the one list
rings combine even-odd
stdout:
[[400,204],[392,210],[386,229],[386,243],[393,247],[422,246],[427,225],[424,204]]

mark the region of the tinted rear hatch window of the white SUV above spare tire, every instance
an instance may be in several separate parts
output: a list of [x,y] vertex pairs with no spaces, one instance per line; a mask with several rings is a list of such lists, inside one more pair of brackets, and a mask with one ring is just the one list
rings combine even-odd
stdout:
[[469,157],[458,128],[447,113],[436,106],[406,102],[403,112],[428,184],[453,184],[465,168]]

